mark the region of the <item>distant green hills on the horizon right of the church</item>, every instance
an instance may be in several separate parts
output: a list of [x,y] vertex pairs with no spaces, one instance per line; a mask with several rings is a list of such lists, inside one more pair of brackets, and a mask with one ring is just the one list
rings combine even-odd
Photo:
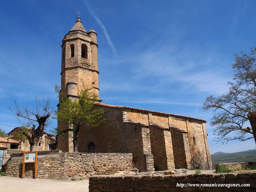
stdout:
[[[217,152],[223,153],[223,152]],[[211,155],[212,166],[215,167],[216,163],[234,163],[234,162],[246,162],[256,161],[256,150],[247,150],[237,153],[224,153]]]

